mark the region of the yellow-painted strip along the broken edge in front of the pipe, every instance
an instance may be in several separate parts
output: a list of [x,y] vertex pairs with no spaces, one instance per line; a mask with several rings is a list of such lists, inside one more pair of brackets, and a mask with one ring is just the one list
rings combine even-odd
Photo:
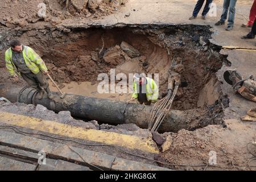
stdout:
[[91,140],[93,142],[138,149],[144,152],[151,152],[156,154],[159,152],[151,138],[118,134],[102,130],[86,130],[82,127],[71,126],[54,121],[47,121],[2,111],[0,112],[0,122],[6,123],[7,125],[15,125],[19,127],[25,127],[27,129],[44,131],[49,134]]

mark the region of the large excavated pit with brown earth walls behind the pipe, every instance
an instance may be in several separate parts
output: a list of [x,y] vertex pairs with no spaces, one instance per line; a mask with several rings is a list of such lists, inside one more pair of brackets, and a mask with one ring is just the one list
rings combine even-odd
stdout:
[[[220,47],[209,42],[208,26],[133,25],[68,31],[49,28],[19,34],[16,37],[23,44],[42,56],[53,79],[74,94],[81,94],[85,89],[86,84],[82,83],[89,82],[97,88],[98,75],[110,75],[110,69],[115,69],[115,75],[125,73],[127,78],[129,73],[158,73],[159,98],[163,98],[167,94],[168,70],[175,60],[184,65],[184,70],[172,109],[187,114],[189,126],[184,128],[195,130],[209,124],[225,126],[222,107],[228,105],[215,73],[222,64],[229,63],[218,53]],[[109,98],[108,94],[103,95]],[[112,100],[125,101],[130,96],[116,93]]]

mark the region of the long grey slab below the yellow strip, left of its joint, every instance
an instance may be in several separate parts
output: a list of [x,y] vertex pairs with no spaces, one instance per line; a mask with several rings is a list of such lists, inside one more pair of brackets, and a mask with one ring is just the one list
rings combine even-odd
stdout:
[[[71,162],[79,162],[88,167],[92,167],[93,165],[102,169],[110,169],[115,159],[114,156],[111,155],[71,147],[67,146],[67,144],[53,143],[47,140],[25,137],[23,135],[13,134],[5,131],[0,132],[0,144],[4,146],[22,148],[23,150],[36,153],[39,151],[44,151],[46,152],[47,157],[50,156],[51,158],[54,157],[55,159],[65,159]],[[90,156],[90,158],[88,158],[88,156]]]

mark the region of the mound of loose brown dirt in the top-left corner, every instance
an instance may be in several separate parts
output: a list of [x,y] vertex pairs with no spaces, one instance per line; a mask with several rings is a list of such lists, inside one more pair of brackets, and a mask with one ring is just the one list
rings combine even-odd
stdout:
[[26,27],[29,23],[49,22],[52,26],[64,19],[99,18],[117,12],[126,0],[4,0],[0,2],[0,25]]

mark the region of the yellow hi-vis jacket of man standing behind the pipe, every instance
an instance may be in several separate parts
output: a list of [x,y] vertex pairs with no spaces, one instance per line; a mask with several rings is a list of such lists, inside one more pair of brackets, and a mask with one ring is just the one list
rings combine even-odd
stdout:
[[[158,86],[156,85],[155,81],[152,78],[147,78],[147,84],[146,84],[146,96],[147,100],[150,101],[156,101],[158,100]],[[137,93],[137,84],[135,81],[133,82],[133,98],[138,98]]]

